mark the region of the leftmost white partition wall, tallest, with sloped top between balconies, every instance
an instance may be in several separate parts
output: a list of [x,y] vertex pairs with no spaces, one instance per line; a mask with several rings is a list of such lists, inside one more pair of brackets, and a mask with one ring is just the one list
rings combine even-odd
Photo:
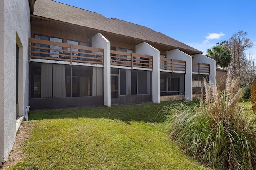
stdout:
[[92,47],[104,49],[104,68],[103,68],[103,96],[104,105],[111,106],[111,93],[110,93],[110,42],[101,33],[97,33],[92,38]]

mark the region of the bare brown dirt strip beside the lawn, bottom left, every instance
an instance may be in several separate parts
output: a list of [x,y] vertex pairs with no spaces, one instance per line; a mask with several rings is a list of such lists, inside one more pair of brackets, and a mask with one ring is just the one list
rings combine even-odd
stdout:
[[0,168],[1,170],[5,170],[6,168],[26,158],[27,155],[22,153],[22,150],[24,148],[24,141],[28,139],[28,137],[31,135],[31,131],[34,127],[35,123],[23,121],[23,123],[20,125],[20,130],[16,135],[12,151],[8,159],[6,160],[4,167]]

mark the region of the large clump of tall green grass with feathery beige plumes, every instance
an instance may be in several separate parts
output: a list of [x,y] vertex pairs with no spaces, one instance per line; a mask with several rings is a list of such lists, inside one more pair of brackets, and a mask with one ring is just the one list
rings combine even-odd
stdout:
[[225,91],[204,81],[205,98],[193,105],[177,103],[164,110],[170,138],[186,154],[214,169],[256,167],[256,114],[239,102],[238,79],[227,79]]

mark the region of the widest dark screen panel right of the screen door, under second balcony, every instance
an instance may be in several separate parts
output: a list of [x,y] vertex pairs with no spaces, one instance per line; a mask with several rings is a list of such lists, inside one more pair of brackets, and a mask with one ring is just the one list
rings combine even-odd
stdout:
[[148,93],[148,73],[144,70],[137,70],[138,72],[138,94]]

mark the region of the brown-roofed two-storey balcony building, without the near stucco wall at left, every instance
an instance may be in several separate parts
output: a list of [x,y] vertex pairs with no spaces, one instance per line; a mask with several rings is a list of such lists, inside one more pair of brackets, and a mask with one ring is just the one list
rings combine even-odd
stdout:
[[192,100],[215,82],[214,60],[150,28],[41,0],[30,20],[32,110]]

